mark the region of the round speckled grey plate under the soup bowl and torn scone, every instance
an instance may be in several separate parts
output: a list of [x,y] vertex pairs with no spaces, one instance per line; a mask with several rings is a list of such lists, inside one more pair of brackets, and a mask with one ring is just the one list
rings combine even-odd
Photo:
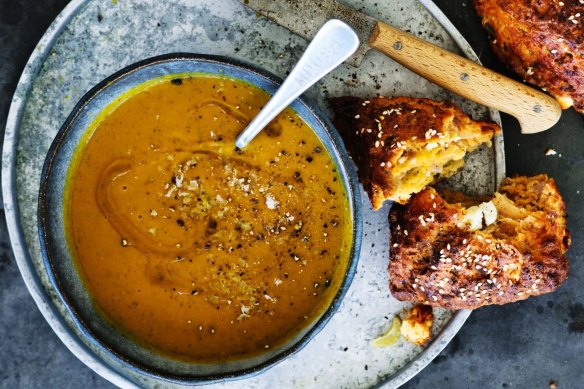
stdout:
[[[476,60],[470,46],[429,0],[421,1],[425,8],[414,0],[344,2]],[[125,370],[94,345],[81,341],[48,280],[36,231],[36,204],[43,161],[55,134],[86,91],[139,60],[179,51],[217,54],[284,76],[305,46],[304,40],[258,18],[236,0],[74,0],[31,56],[12,102],[2,155],[12,247],[31,295],[56,334],[87,366],[116,385],[155,387],[161,383]],[[328,97],[377,93],[451,99],[476,119],[499,121],[497,113],[451,95],[377,52],[369,53],[359,69],[339,67],[308,94],[326,111]],[[492,192],[504,176],[502,145],[502,138],[497,138],[493,148],[468,156],[464,170],[449,184],[471,193]],[[327,327],[295,356],[230,386],[397,387],[446,346],[468,311],[436,309],[435,336],[425,348],[401,341],[385,349],[369,345],[387,329],[393,315],[409,306],[393,299],[387,286],[388,209],[386,205],[374,213],[363,196],[366,223],[358,272]]]

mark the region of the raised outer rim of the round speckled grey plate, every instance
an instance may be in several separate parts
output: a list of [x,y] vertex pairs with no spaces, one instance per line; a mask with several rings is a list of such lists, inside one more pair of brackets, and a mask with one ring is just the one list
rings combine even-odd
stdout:
[[[446,15],[438,8],[438,6],[436,6],[432,0],[417,1],[422,4],[440,23],[464,55],[472,61],[480,64],[480,60],[470,44]],[[5,126],[4,144],[2,147],[2,197],[8,235],[10,237],[12,252],[19,272],[28,292],[53,332],[55,332],[57,337],[73,353],[73,355],[77,357],[77,359],[104,379],[118,387],[139,388],[135,382],[116,371],[113,366],[107,365],[80,339],[73,336],[68,324],[61,317],[57,308],[50,302],[47,292],[42,286],[40,276],[30,258],[30,253],[28,252],[23,230],[20,225],[15,162],[16,146],[19,139],[18,136],[22,115],[28,101],[28,96],[32,90],[34,80],[36,79],[36,75],[39,73],[45,58],[50,53],[54,43],[60,37],[63,30],[68,26],[69,22],[83,9],[85,3],[86,0],[72,0],[67,4],[41,37],[20,76],[10,104]],[[489,118],[501,125],[501,118],[498,111],[489,109]],[[499,185],[505,176],[505,156],[502,135],[496,136],[493,140],[493,149],[495,158],[495,182],[496,185]],[[455,312],[447,324],[442,328],[440,334],[433,338],[431,343],[426,346],[422,352],[404,365],[398,372],[382,379],[374,385],[374,387],[395,388],[403,385],[418,374],[440,352],[442,352],[452,338],[458,333],[470,314],[470,310]]]

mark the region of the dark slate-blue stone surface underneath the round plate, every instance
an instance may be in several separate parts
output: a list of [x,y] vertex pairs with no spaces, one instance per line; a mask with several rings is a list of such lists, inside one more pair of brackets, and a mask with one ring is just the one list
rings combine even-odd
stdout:
[[[470,3],[437,1],[485,64],[504,72],[493,58]],[[452,3],[452,4],[451,4]],[[34,45],[66,1],[0,0],[0,128],[19,74]],[[546,172],[555,177],[570,212],[574,246],[570,278],[557,293],[475,312],[450,346],[408,388],[560,387],[578,388],[584,352],[582,269],[584,209],[584,119],[565,112],[552,130],[521,136],[504,117],[510,174]],[[546,157],[547,148],[559,154]],[[577,192],[580,191],[581,193]],[[20,279],[6,226],[0,225],[0,387],[111,387],[84,367],[46,324]]]

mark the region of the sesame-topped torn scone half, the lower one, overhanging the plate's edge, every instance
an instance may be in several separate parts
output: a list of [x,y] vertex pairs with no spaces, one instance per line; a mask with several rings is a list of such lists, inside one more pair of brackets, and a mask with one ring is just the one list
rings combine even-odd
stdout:
[[493,224],[472,231],[465,208],[433,188],[390,212],[394,297],[448,309],[505,304],[556,290],[568,275],[565,205],[546,175],[507,178]]

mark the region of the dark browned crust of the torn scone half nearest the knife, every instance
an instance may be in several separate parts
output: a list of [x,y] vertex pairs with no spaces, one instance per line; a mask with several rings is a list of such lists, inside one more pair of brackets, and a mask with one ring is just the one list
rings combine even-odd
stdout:
[[399,183],[392,176],[392,167],[408,153],[408,142],[425,146],[444,135],[452,137],[464,130],[481,138],[479,143],[490,145],[493,135],[500,132],[495,123],[473,121],[448,101],[339,97],[332,99],[331,105],[335,127],[357,165],[359,180],[369,194],[373,209],[381,208],[385,200],[407,202],[407,197],[395,196]]

